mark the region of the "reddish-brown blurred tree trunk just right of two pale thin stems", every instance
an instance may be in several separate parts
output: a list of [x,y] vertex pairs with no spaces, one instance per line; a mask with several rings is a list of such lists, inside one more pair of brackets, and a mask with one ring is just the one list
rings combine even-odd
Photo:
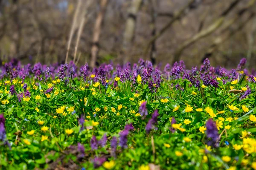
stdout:
[[106,8],[108,5],[108,0],[101,0],[100,7],[101,10],[96,18],[96,22],[93,30],[93,46],[91,49],[91,60],[90,67],[94,68],[97,60],[97,56],[99,53],[99,36],[102,29],[102,21],[106,12]]

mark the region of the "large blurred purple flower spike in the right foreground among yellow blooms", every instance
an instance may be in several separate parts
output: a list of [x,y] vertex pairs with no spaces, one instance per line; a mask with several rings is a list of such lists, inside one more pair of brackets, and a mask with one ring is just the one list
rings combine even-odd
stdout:
[[206,122],[206,134],[208,138],[207,145],[212,147],[218,147],[218,129],[216,123],[212,119],[209,119]]

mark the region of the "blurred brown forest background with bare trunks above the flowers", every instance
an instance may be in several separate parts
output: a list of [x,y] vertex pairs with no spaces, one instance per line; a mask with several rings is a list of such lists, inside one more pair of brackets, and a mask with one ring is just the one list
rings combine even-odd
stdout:
[[187,67],[256,63],[256,0],[0,0],[0,57]]

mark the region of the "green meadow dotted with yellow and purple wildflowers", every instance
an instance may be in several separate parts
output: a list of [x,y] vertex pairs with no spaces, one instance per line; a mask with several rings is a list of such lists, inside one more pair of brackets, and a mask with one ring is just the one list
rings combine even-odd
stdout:
[[256,170],[256,71],[0,67],[0,169]]

